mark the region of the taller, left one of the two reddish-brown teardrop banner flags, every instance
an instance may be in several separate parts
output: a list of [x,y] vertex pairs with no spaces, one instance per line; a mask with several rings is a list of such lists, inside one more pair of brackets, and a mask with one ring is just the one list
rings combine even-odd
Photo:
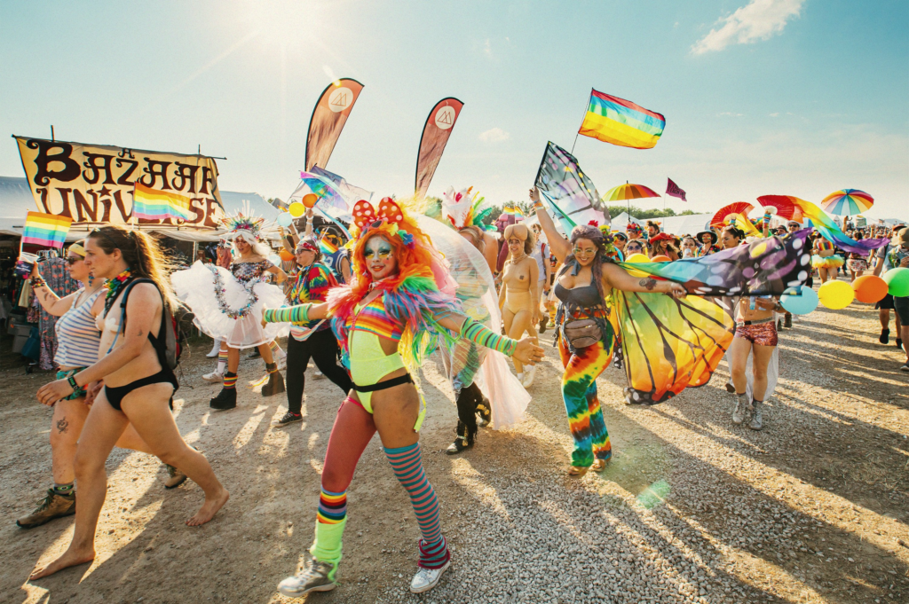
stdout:
[[325,87],[315,104],[313,117],[309,120],[309,135],[306,137],[307,172],[315,165],[325,168],[362,90],[363,84],[349,77],[335,80]]

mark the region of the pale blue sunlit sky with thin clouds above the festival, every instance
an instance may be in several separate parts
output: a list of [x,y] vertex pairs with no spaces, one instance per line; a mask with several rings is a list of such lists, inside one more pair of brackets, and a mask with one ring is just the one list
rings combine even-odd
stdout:
[[[869,8],[873,7],[873,9]],[[439,99],[464,101],[430,194],[524,199],[591,87],[666,117],[652,150],[581,137],[600,193],[667,176],[713,211],[767,193],[871,193],[909,219],[909,3],[39,2],[0,5],[0,133],[223,155],[222,189],[286,197],[332,77],[365,89],[328,169],[413,192]],[[0,175],[21,176],[15,142]],[[662,206],[656,199],[650,206]]]

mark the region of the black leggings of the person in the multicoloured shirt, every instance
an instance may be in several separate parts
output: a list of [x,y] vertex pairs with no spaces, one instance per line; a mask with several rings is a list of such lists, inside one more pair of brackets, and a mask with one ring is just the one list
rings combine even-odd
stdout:
[[304,342],[287,338],[287,411],[300,413],[303,407],[303,389],[306,383],[306,365],[310,358],[319,371],[337,384],[345,394],[354,388],[344,367],[337,364],[338,341],[331,330],[322,330],[309,336]]

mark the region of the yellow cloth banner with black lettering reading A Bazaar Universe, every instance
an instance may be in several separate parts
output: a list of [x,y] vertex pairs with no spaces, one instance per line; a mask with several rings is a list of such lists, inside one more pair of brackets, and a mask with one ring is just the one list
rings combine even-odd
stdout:
[[[211,157],[14,138],[38,211],[71,219],[74,226],[135,223],[218,228],[225,215],[218,168]],[[134,213],[135,190],[157,196],[158,203],[171,200],[174,212]]]

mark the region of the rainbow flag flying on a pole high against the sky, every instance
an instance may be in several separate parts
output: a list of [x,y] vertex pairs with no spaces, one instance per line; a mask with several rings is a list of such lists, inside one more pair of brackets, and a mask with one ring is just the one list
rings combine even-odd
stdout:
[[578,134],[623,147],[653,149],[665,125],[662,114],[591,89],[590,106]]

